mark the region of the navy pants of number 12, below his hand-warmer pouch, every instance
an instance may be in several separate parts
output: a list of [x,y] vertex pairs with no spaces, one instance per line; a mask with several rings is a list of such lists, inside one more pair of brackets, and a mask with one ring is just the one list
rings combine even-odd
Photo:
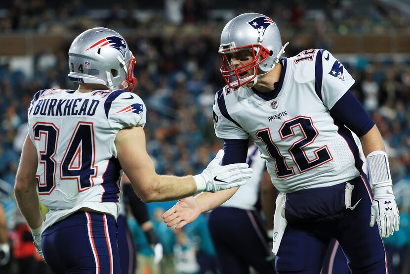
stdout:
[[354,210],[347,211],[346,217],[309,225],[287,224],[276,256],[279,274],[320,273],[331,238],[339,241],[353,274],[389,273],[377,225],[369,227],[372,194],[366,181],[365,177],[349,181],[355,186],[351,204],[362,200]]

